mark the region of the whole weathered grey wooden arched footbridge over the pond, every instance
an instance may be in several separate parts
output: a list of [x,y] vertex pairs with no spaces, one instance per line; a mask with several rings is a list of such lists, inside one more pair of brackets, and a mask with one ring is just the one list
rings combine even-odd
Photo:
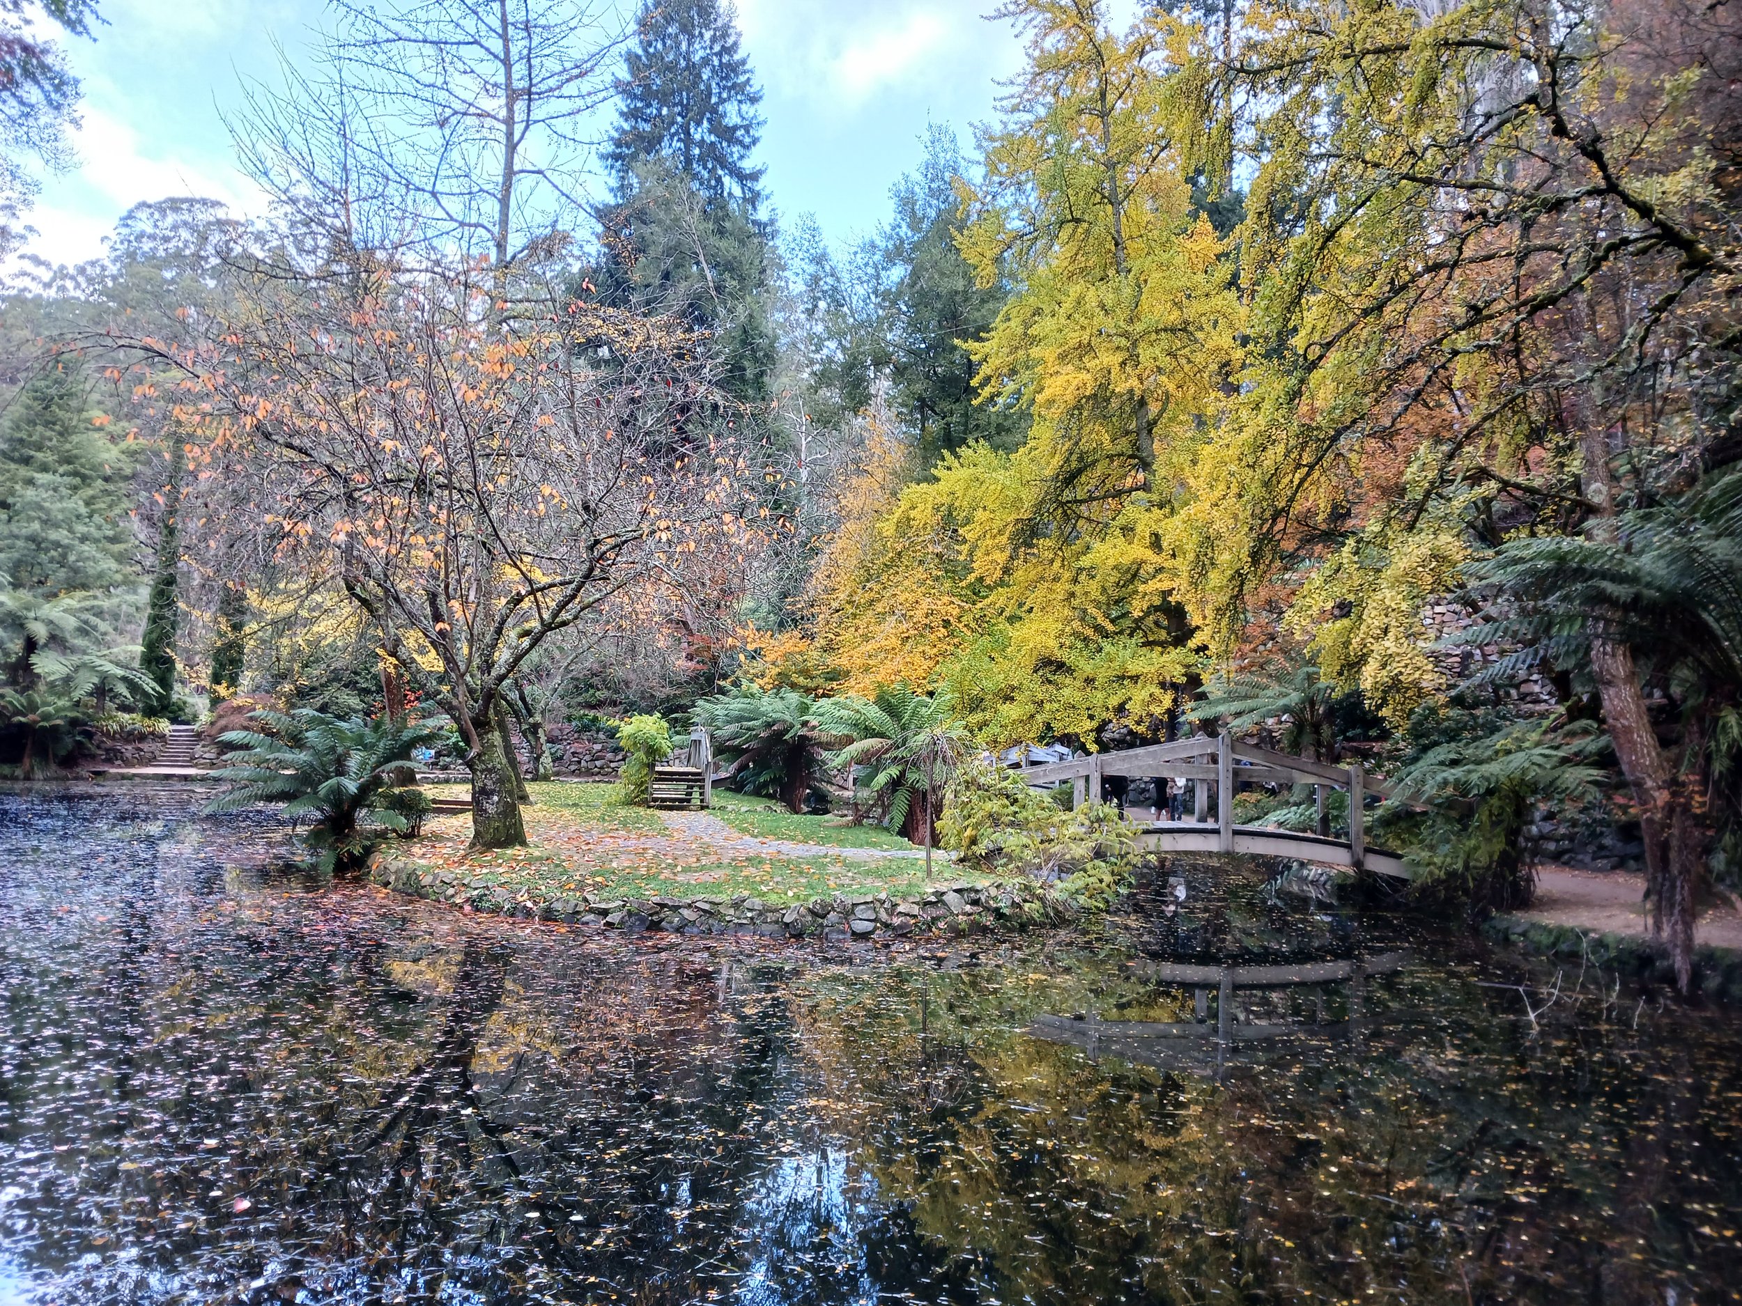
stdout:
[[[1303,862],[1347,865],[1357,871],[1376,871],[1383,876],[1409,879],[1409,869],[1397,853],[1367,848],[1366,796],[1387,794],[1373,784],[1361,766],[1329,766],[1291,757],[1286,752],[1259,749],[1252,744],[1235,744],[1228,735],[1200,737],[1176,744],[1155,744],[1124,752],[1101,752],[1092,757],[1024,766],[1023,780],[1031,785],[1071,782],[1075,801],[1101,796],[1101,780],[1108,777],[1192,780],[1195,810],[1192,820],[1160,820],[1143,825],[1138,843],[1150,852],[1164,853],[1256,853],[1259,857],[1296,857]],[[1266,825],[1235,825],[1233,794],[1242,784],[1313,787],[1315,803],[1324,813],[1326,791],[1348,792],[1348,839],[1331,839],[1324,834],[1300,834]],[[1216,796],[1216,818],[1209,818],[1209,796]],[[1324,825],[1320,825],[1322,829]]]

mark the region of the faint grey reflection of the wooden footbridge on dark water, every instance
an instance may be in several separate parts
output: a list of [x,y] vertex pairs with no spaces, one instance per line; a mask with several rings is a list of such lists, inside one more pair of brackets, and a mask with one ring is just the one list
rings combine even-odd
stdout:
[[[1028,1027],[1028,1034],[1049,1043],[1070,1043],[1087,1052],[1090,1059],[1115,1057],[1164,1071],[1211,1074],[1221,1071],[1230,1048],[1239,1043],[1258,1043],[1272,1038],[1350,1038],[1359,1043],[1369,1024],[1364,1012],[1367,977],[1390,975],[1402,970],[1408,961],[1408,953],[1286,966],[1198,966],[1151,961],[1143,965],[1141,975],[1160,984],[1193,989],[1192,1020],[1101,1020],[1092,1013],[1042,1015]],[[1237,1010],[1235,991],[1239,989],[1289,989],[1303,984],[1347,984],[1347,1019],[1329,1024],[1324,1020],[1322,989],[1317,1015],[1310,1024],[1251,1022]],[[1214,1024],[1209,1019],[1211,993],[1216,994]]]

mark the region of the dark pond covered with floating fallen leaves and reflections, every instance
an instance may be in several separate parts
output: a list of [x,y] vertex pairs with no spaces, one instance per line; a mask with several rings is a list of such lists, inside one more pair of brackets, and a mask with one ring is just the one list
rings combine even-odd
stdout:
[[305,883],[192,803],[0,794],[5,1306],[1742,1294],[1733,1013],[1313,876],[594,939]]

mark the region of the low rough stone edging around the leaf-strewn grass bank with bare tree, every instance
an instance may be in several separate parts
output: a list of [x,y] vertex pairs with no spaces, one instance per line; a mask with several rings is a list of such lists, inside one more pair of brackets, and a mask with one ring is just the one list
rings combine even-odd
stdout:
[[671,933],[740,933],[766,939],[902,937],[913,933],[970,933],[995,925],[1021,926],[1052,919],[1066,904],[1043,893],[1040,885],[995,881],[986,885],[935,885],[913,897],[888,893],[836,893],[810,902],[763,902],[749,895],[732,899],[613,899],[575,893],[544,899],[514,893],[490,872],[469,876],[432,871],[411,862],[378,858],[369,879],[383,888],[430,902],[512,916],[528,921],[557,921],[601,930],[667,930]]

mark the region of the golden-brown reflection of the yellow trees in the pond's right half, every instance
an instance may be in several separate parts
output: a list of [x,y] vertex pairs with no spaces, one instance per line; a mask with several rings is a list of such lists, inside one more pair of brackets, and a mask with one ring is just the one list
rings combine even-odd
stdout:
[[1646,1301],[1676,1276],[1732,1282],[1733,1249],[1690,1233],[1742,1196],[1702,1163],[1733,1148],[1725,1043],[1681,1041],[1685,1064],[1658,1067],[1655,1038],[1589,1005],[1531,1036],[1516,993],[1451,977],[1376,987],[1388,1019],[1364,1052],[1284,1043],[1216,1087],[1014,1033],[1073,1006],[1190,1019],[1183,993],[1169,1013],[1115,966],[932,975],[934,1010],[977,1031],[974,1088],[942,1123],[904,1088],[911,1003],[819,984],[805,1031],[827,1092],[868,1099],[854,1137],[878,1186],[948,1256],[989,1266],[1000,1299],[1557,1303],[1611,1283],[1603,1301]]

